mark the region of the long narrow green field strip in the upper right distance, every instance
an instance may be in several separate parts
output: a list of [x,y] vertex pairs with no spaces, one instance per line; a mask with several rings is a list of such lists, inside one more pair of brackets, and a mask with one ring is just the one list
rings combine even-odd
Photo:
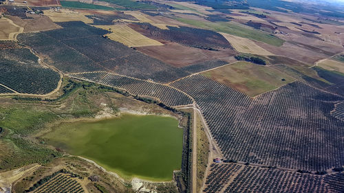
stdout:
[[250,29],[244,25],[234,22],[205,22],[196,21],[193,19],[177,18],[176,20],[189,25],[194,25],[195,27],[202,27],[207,30],[214,30],[216,32],[224,32],[227,34],[232,34],[235,36],[240,36],[243,38],[249,38],[255,41],[261,41],[268,43],[270,45],[281,46],[285,41],[270,34],[266,34],[259,30]]

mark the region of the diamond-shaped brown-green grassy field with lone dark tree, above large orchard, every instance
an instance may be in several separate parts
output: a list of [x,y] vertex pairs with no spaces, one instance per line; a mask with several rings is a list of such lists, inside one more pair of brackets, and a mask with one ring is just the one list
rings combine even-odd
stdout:
[[252,97],[277,89],[295,80],[271,67],[247,62],[226,65],[206,71],[203,75]]

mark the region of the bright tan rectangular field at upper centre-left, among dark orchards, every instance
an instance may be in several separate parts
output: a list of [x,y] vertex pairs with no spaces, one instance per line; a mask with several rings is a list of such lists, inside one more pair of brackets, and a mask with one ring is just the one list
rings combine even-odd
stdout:
[[106,34],[111,40],[118,41],[129,47],[140,47],[150,45],[163,45],[151,38],[136,32],[127,25],[96,25],[96,27],[109,30],[111,33]]

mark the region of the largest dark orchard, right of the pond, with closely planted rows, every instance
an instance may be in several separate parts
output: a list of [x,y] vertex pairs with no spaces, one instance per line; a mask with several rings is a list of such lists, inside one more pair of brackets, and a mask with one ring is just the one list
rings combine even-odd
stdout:
[[310,171],[344,164],[344,122],[330,113],[341,96],[296,81],[252,99],[202,75],[171,86],[197,102],[226,159]]

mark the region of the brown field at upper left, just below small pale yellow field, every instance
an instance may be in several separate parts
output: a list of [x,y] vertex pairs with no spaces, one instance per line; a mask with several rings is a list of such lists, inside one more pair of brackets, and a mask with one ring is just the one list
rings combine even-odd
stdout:
[[61,28],[60,25],[52,22],[48,16],[32,15],[33,19],[20,19],[17,16],[9,16],[9,18],[17,25],[24,27],[24,32],[36,32],[55,30]]

